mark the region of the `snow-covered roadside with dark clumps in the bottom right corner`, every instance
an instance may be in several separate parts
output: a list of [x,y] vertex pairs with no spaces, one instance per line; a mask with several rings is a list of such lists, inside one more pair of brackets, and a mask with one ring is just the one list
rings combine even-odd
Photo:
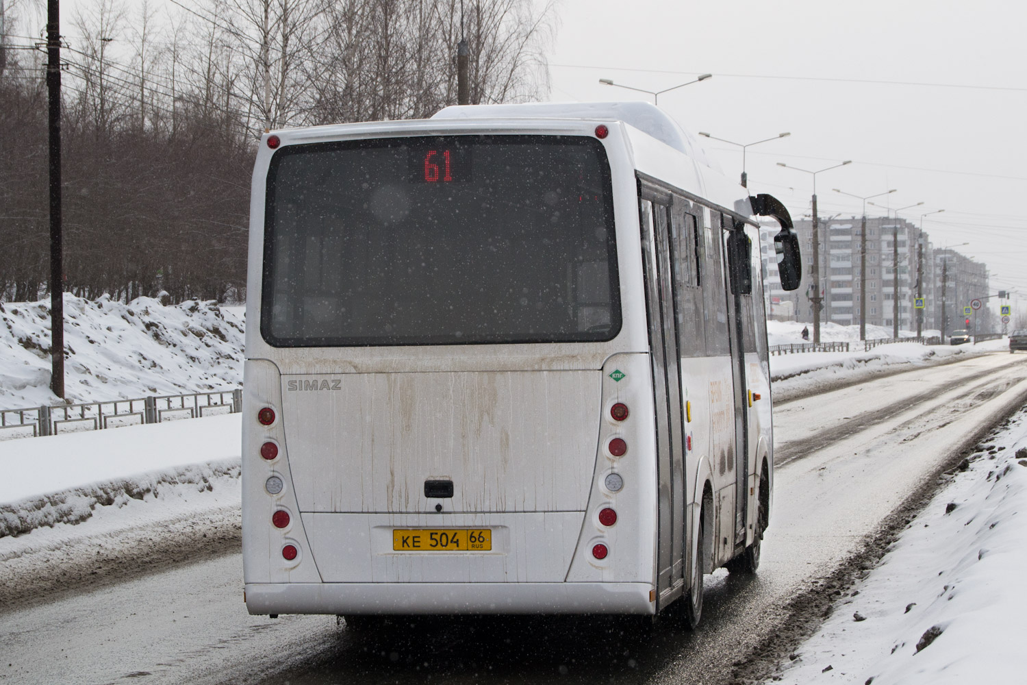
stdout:
[[960,464],[774,681],[1027,682],[1021,651],[1027,635],[1025,517],[1022,410]]

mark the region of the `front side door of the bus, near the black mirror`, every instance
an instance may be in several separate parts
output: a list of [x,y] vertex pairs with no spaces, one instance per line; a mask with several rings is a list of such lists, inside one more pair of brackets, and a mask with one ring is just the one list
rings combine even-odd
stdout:
[[[730,217],[723,218],[724,252],[727,255],[727,312],[731,344],[731,369],[734,386],[734,540],[735,546],[746,543],[746,522],[749,521],[749,452],[755,449],[751,434],[747,353],[756,352],[752,298],[752,242],[745,224]],[[750,445],[753,443],[753,445]]]

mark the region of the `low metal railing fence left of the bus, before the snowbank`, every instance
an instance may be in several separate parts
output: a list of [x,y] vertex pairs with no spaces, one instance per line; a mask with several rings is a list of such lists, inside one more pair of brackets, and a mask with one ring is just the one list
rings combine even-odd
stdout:
[[0,440],[103,430],[242,411],[242,388],[0,410]]

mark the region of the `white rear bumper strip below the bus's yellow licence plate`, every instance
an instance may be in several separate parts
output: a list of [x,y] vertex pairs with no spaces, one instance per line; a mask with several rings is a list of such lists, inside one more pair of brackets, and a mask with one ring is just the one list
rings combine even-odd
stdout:
[[252,614],[652,614],[642,582],[250,583]]

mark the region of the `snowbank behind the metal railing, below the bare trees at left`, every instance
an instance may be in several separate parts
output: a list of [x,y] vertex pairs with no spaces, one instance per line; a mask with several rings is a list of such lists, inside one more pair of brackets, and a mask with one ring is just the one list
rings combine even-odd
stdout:
[[[66,396],[109,401],[238,387],[237,308],[65,295]],[[0,304],[0,409],[59,404],[49,390],[49,301]]]

